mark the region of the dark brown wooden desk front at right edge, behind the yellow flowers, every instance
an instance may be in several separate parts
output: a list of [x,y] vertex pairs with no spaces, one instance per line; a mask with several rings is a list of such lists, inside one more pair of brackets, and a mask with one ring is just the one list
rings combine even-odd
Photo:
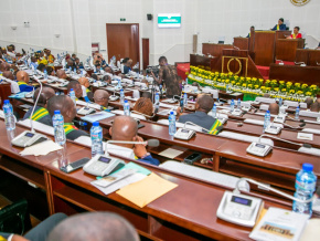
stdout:
[[320,82],[320,67],[271,64],[269,78],[318,85]]

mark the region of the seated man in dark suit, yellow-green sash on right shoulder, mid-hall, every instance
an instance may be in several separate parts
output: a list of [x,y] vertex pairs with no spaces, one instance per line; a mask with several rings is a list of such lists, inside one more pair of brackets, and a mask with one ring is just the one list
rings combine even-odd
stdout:
[[199,94],[196,96],[195,113],[188,115],[180,115],[180,107],[177,109],[177,117],[179,117],[180,123],[192,122],[207,130],[212,135],[216,135],[222,130],[222,123],[217,118],[209,116],[207,113],[212,109],[214,105],[214,99],[207,94]]

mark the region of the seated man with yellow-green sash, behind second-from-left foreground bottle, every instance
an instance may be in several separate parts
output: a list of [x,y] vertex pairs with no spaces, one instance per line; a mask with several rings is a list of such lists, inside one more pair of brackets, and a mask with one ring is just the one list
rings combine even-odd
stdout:
[[53,96],[47,102],[47,111],[53,117],[54,111],[60,111],[64,119],[64,132],[67,139],[75,140],[81,136],[89,136],[87,133],[79,130],[74,126],[73,119],[76,116],[76,108],[71,99],[66,95]]

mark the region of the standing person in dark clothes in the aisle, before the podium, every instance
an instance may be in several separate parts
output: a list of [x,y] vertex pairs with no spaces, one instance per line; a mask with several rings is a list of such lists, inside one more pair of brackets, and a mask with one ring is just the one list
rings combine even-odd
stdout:
[[158,82],[158,84],[162,84],[162,82],[166,85],[167,93],[166,96],[169,98],[172,98],[173,95],[181,95],[181,90],[179,86],[179,78],[178,78],[178,73],[177,69],[170,64],[168,64],[167,57],[166,56],[160,56],[159,57],[159,78],[154,76],[152,73],[152,76],[154,80]]

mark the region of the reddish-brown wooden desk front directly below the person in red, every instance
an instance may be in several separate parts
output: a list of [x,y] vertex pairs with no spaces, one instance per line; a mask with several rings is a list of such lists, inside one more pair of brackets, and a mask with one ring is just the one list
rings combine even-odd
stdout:
[[276,60],[295,62],[297,49],[303,49],[305,39],[279,39],[276,41]]

